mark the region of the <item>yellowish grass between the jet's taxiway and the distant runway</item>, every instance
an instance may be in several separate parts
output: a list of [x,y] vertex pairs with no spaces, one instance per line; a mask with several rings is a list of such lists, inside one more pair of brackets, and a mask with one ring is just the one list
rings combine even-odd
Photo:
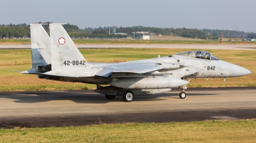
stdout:
[[[193,49],[79,49],[88,62],[112,63],[168,56]],[[256,86],[256,53],[249,50],[207,50],[214,56],[243,66],[251,75],[223,79],[192,79],[189,87]],[[20,75],[10,70],[31,68],[31,50],[0,50],[0,91],[42,91],[93,89],[93,84],[58,82],[38,79],[37,75]]]

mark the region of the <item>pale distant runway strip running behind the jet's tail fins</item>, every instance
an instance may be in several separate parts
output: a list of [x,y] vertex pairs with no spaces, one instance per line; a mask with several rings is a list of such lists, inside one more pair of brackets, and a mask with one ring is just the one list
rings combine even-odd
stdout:
[[[256,50],[255,45],[164,45],[164,44],[118,44],[118,45],[77,45],[77,48],[179,48],[179,49],[226,49]],[[31,49],[31,45],[0,45],[0,49]]]

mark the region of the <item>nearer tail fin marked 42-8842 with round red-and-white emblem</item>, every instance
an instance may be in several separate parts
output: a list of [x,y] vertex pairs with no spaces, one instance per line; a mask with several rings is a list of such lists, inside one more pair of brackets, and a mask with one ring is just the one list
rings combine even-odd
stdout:
[[61,24],[50,24],[52,70],[82,70],[88,63]]

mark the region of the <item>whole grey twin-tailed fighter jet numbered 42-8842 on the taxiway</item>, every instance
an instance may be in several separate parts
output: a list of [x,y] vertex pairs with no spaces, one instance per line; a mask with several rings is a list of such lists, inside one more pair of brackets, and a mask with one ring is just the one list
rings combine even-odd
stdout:
[[[193,50],[123,63],[88,63],[68,36],[62,24],[49,24],[50,36],[42,24],[30,24],[33,68],[21,73],[36,74],[39,79],[96,84],[96,93],[106,98],[159,94],[183,86],[180,98],[186,98],[188,78],[240,77],[252,72],[236,64],[221,61],[209,52]],[[102,87],[100,84],[108,84]]]

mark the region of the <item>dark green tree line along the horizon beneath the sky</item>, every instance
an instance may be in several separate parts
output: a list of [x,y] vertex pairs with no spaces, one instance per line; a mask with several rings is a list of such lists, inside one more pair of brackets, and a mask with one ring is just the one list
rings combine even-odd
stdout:
[[[38,22],[42,23],[42,22]],[[51,22],[44,22],[50,24]],[[47,33],[49,34],[48,25],[43,25]],[[223,32],[224,37],[228,38],[252,38],[255,37],[255,33],[244,33],[243,31],[230,31],[230,30],[218,30],[218,29],[188,29],[188,28],[161,28],[161,27],[111,27],[109,34],[109,27],[85,27],[79,28],[73,24],[63,25],[67,33],[72,38],[126,38],[127,36],[133,36],[132,33],[138,31],[145,31],[148,33],[156,33],[161,35],[173,35],[182,36],[186,38],[200,38],[200,39],[218,39]],[[113,33],[115,28],[116,33]],[[127,33],[122,35],[118,33]],[[30,29],[28,24],[7,24],[0,25],[0,38],[20,38],[22,36],[30,37]],[[256,38],[256,37],[255,37]]]

